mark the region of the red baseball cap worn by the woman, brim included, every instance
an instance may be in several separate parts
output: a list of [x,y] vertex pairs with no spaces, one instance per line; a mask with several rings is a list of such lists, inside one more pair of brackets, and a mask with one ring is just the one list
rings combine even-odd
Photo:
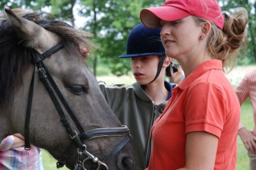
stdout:
[[189,15],[209,20],[223,29],[224,18],[216,0],[168,0],[162,6],[141,10],[140,20],[148,28],[157,28],[161,27],[160,20],[179,20]]

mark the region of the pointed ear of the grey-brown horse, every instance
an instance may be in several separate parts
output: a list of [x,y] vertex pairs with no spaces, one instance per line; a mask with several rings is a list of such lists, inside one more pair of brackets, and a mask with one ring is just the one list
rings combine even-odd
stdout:
[[[24,44],[31,48],[35,48],[39,53],[43,53],[49,50],[51,46],[58,43],[56,36],[49,31],[46,31],[43,27],[26,20],[18,15],[15,15],[10,8],[4,8],[6,15],[8,16],[13,29],[24,39]],[[20,10],[16,10],[20,11]]]

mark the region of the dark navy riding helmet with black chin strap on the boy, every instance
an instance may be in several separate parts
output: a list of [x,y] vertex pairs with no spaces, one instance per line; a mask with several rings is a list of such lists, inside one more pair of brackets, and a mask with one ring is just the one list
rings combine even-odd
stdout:
[[[119,58],[141,57],[147,55],[160,55],[161,60],[158,64],[157,73],[154,78],[159,76],[166,57],[160,37],[161,28],[148,29],[143,24],[136,25],[127,38],[126,54],[119,55]],[[174,69],[173,69],[174,71]],[[172,76],[170,66],[166,67],[166,76]],[[150,81],[152,83],[154,80]]]

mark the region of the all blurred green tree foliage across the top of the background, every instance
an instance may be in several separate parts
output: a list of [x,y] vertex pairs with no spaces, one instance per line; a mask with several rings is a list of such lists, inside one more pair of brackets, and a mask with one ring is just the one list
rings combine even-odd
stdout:
[[[248,50],[239,65],[256,62],[256,3],[252,0],[217,0],[222,10],[232,13],[237,6],[248,10]],[[140,24],[140,11],[151,6],[160,6],[164,0],[1,0],[0,10],[5,6],[11,8],[31,8],[49,10],[51,14],[74,25],[76,9],[84,20],[88,20],[81,29],[92,32],[93,40],[100,47],[91,52],[90,66],[97,75],[97,63],[105,64],[116,75],[127,74],[130,68],[129,59],[119,59],[125,53],[127,36],[132,27]],[[76,8],[75,8],[76,7]]]

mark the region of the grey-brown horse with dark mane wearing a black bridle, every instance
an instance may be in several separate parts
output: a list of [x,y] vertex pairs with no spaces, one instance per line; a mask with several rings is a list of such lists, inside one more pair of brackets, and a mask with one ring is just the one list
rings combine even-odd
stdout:
[[81,48],[92,34],[49,13],[0,16],[0,141],[19,133],[69,169],[134,167],[129,129],[102,96]]

